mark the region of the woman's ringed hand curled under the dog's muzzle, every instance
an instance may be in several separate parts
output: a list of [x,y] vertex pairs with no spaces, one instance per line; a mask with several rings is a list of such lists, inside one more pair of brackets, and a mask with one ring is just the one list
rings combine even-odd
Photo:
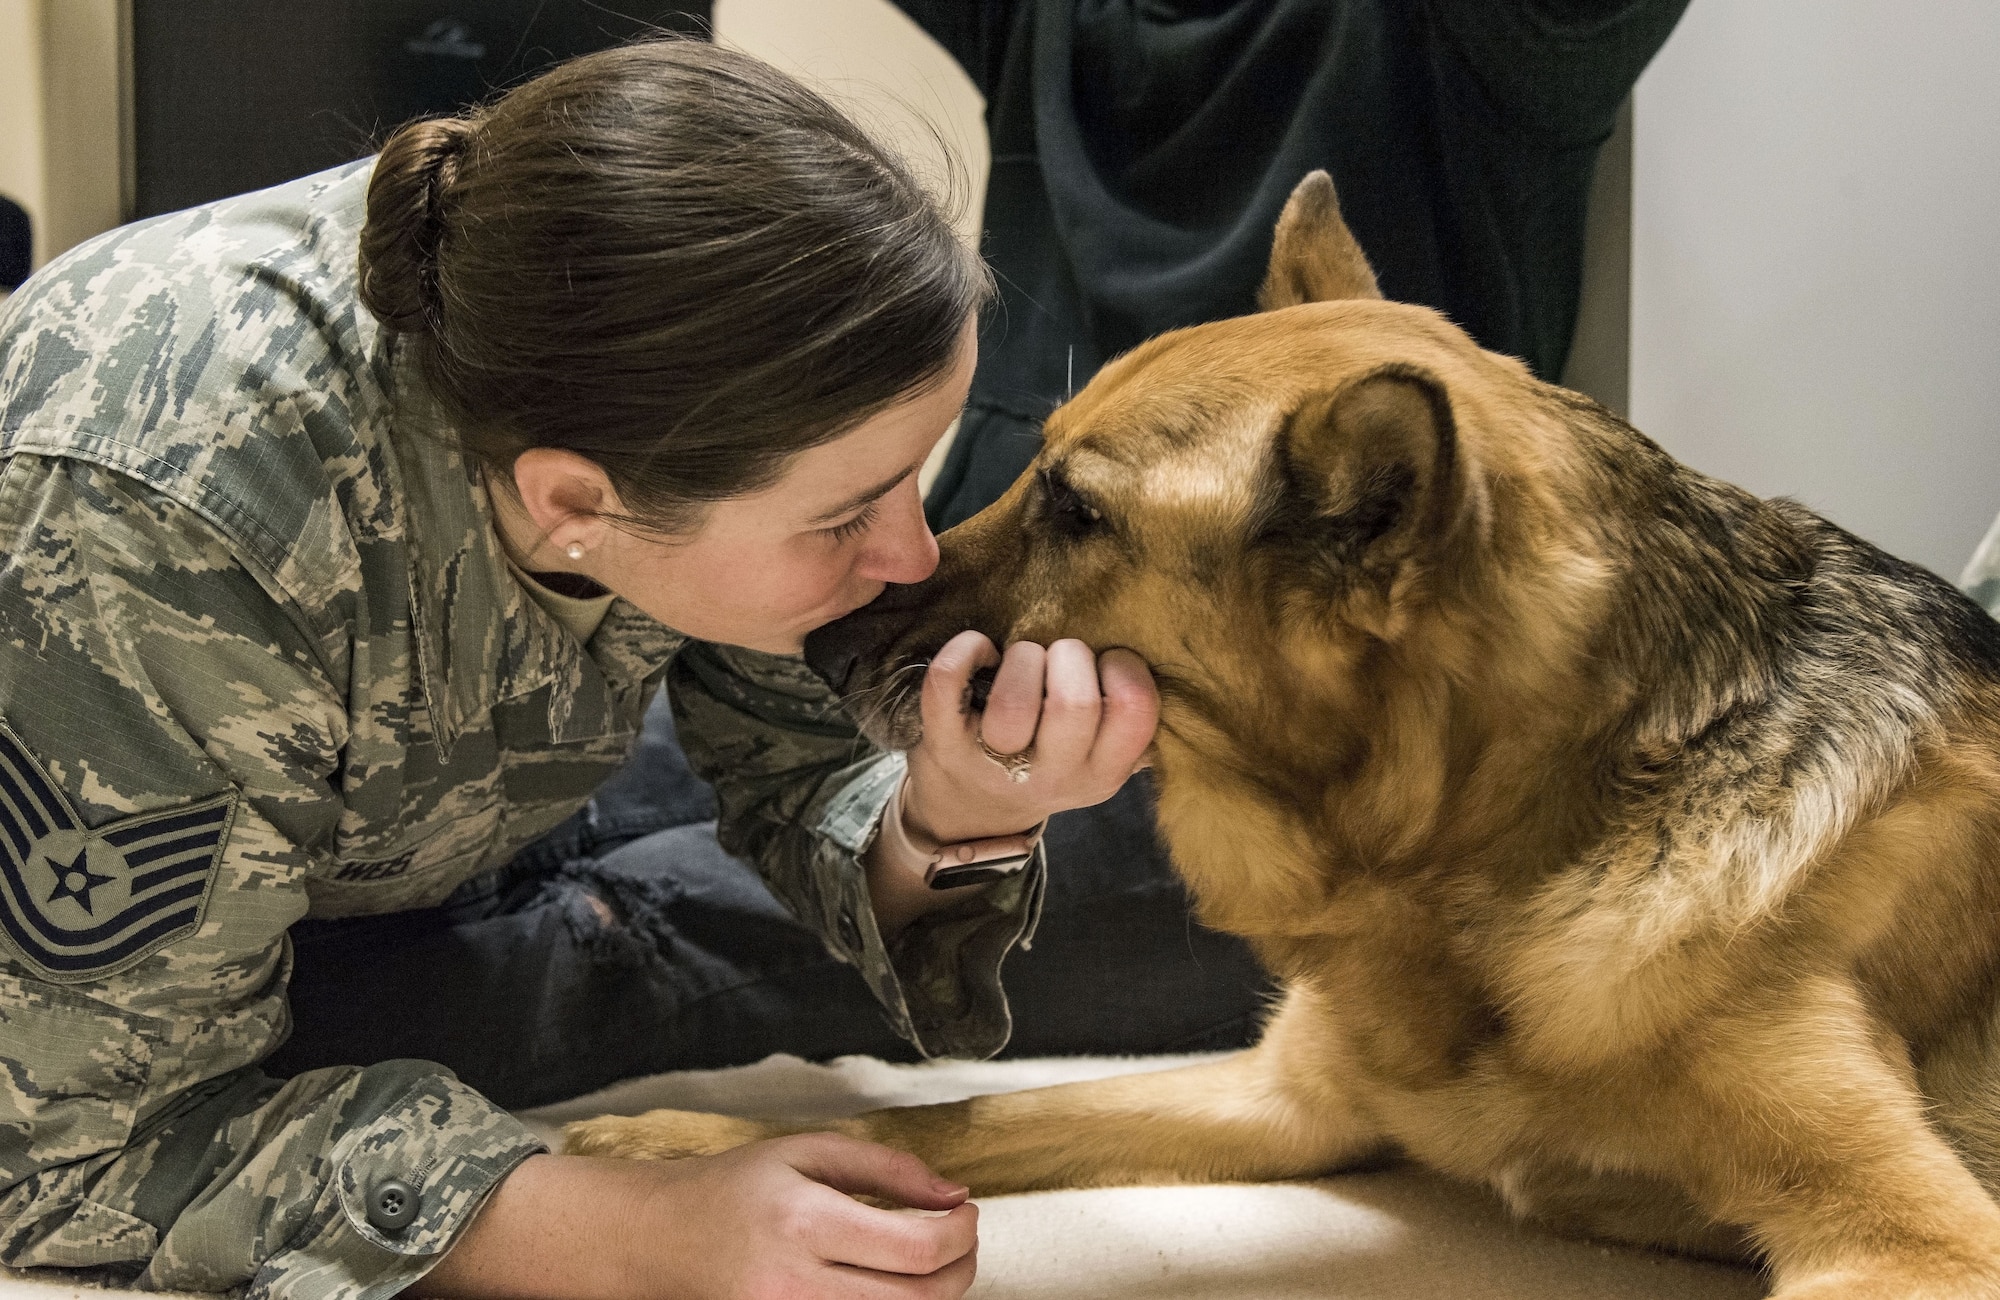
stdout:
[[[972,674],[1000,666],[986,712],[970,708]],[[910,750],[904,824],[940,844],[1008,836],[1052,812],[1102,804],[1132,776],[1160,722],[1146,660],[1092,654],[1080,640],[1014,642],[1002,656],[980,632],[960,632],[924,676],[924,740]],[[1016,782],[980,750],[1022,754]]]

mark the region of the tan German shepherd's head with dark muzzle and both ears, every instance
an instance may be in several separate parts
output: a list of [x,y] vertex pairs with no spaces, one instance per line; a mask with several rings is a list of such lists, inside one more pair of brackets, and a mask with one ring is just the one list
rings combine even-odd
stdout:
[[916,742],[920,666],[976,628],[1138,652],[1162,766],[1252,734],[1358,760],[1372,672],[1480,582],[1496,464],[1534,456],[1522,426],[1548,398],[1436,312],[1382,300],[1324,172],[1284,210],[1260,306],[1108,364],[1008,494],[940,538],[930,580],[808,638],[874,740]]

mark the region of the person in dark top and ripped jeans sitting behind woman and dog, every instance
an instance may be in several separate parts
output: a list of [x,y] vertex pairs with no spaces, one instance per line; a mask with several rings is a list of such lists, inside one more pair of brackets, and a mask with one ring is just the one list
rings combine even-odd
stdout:
[[[986,94],[994,154],[1000,310],[928,500],[944,528],[1006,490],[1072,382],[1150,334],[1252,310],[1284,198],[1314,168],[1390,298],[1556,376],[1598,144],[1686,0],[900,4]],[[1150,800],[1140,774],[1050,820],[1042,920],[1006,962],[1008,1054],[1256,1036],[1264,978],[1190,918]],[[626,770],[510,868],[428,912],[294,928],[300,1028],[272,1072],[422,1056],[524,1106],[780,1050],[914,1058],[712,818],[662,700]]]

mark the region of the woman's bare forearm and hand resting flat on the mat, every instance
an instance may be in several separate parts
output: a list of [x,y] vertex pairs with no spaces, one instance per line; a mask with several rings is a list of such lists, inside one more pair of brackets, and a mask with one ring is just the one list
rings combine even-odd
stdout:
[[686,1160],[532,1156],[408,1294],[958,1300],[976,1258],[966,1188],[886,1146],[800,1134]]

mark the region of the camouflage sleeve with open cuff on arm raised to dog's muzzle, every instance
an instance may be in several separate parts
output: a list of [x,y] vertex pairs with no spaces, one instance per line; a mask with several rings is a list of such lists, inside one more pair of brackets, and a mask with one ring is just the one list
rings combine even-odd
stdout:
[[858,968],[926,1056],[992,1056],[1012,1032],[1000,962],[1026,942],[1046,862],[940,908],[884,944],[862,854],[902,784],[802,660],[692,642],[668,676],[688,762],[716,786],[722,846]]

